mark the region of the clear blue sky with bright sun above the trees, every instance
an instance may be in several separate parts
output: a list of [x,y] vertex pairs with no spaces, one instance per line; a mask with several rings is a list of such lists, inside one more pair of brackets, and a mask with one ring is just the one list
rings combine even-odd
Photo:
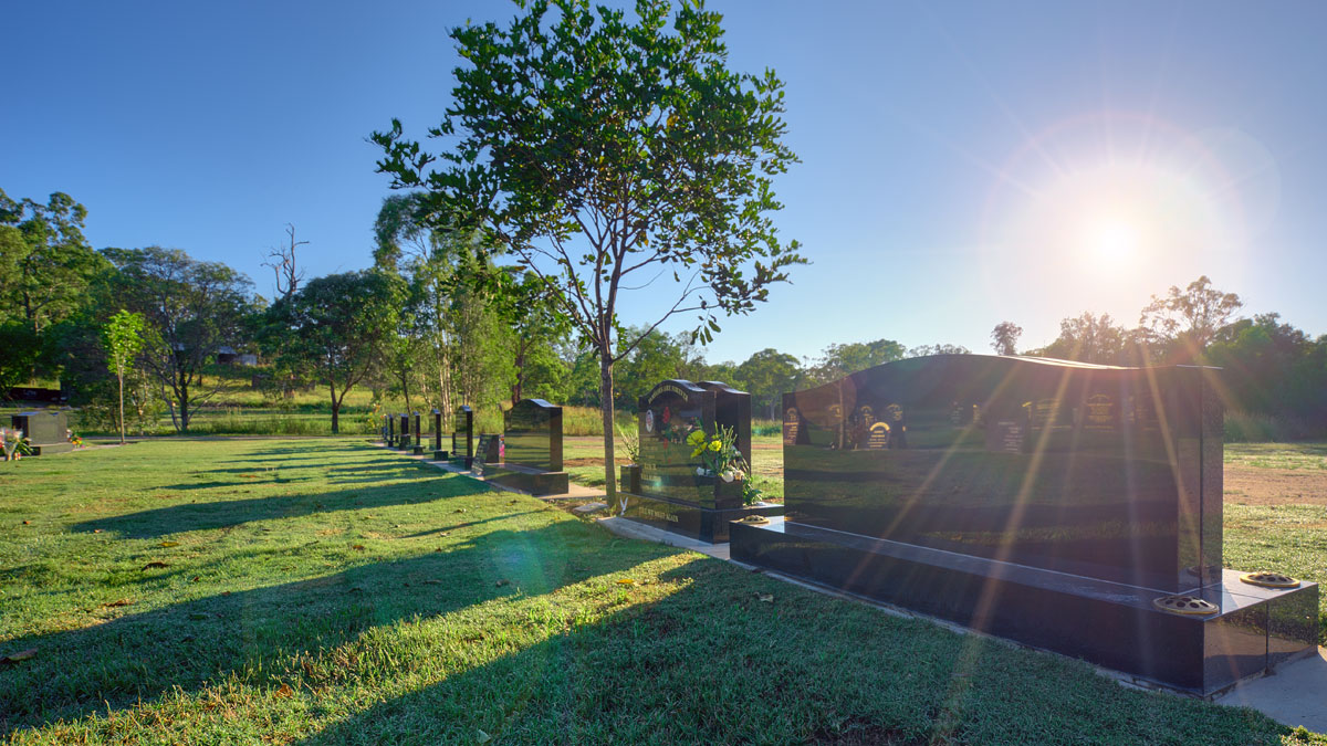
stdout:
[[[813,261],[707,357],[880,337],[989,352],[1083,311],[1137,323],[1206,273],[1327,333],[1327,3],[713,1],[730,65],[787,84],[776,183]],[[0,188],[89,210],[93,246],[247,272],[287,223],[311,276],[370,264],[365,142],[445,109],[447,29],[506,1],[16,3]],[[645,321],[667,288],[624,308]],[[671,331],[681,331],[679,323]]]

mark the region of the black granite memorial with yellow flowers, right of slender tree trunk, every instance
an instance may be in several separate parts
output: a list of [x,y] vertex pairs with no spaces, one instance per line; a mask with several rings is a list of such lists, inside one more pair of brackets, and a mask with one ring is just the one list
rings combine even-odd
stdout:
[[641,397],[637,419],[640,477],[622,488],[626,518],[719,543],[729,540],[731,520],[782,514],[779,504],[743,504],[742,479],[706,473],[687,442],[691,433],[731,427],[736,449],[748,455],[751,394],[715,381],[664,381]]

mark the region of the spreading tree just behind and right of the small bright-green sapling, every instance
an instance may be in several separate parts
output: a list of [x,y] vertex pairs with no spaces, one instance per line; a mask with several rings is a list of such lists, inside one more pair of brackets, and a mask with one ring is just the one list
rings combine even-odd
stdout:
[[204,368],[223,345],[242,344],[259,309],[252,283],[219,261],[198,261],[178,248],[106,248],[119,269],[114,297],[142,313],[143,362],[161,386],[171,422],[180,433],[222,380],[199,393]]

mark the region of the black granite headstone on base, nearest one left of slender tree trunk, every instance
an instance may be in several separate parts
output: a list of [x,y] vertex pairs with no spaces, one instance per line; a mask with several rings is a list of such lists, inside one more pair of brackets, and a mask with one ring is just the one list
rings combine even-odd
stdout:
[[520,400],[503,414],[503,461],[487,465],[490,482],[531,495],[565,495],[563,408],[544,400]]

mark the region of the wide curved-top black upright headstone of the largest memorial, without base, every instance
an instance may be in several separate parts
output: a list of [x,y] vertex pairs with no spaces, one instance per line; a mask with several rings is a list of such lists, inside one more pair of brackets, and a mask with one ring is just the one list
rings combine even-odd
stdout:
[[1193,587],[1221,567],[1212,376],[943,354],[784,394],[788,520]]

